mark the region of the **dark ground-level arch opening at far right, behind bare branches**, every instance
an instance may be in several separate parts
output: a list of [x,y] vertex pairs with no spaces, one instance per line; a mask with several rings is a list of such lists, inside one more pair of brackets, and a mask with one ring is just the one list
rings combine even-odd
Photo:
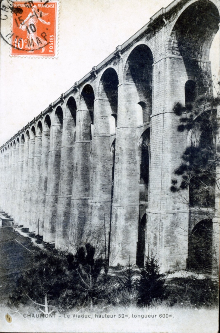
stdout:
[[212,219],[203,219],[196,223],[189,233],[187,266],[201,272],[212,269]]

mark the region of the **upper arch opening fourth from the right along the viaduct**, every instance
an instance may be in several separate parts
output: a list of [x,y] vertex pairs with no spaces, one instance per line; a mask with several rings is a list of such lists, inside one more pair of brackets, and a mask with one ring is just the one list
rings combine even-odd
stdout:
[[80,95],[80,110],[83,113],[84,127],[82,129],[82,137],[84,140],[92,140],[93,121],[94,121],[94,90],[90,84],[86,84]]

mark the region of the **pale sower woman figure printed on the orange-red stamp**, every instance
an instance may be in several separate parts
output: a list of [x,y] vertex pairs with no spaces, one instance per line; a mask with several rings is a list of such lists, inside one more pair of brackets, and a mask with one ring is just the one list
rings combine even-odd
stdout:
[[34,50],[42,48],[41,53],[43,53],[45,51],[45,47],[43,46],[47,44],[47,41],[37,36],[37,22],[39,20],[43,24],[49,25],[50,22],[46,22],[42,19],[43,16],[49,14],[43,13],[42,11],[39,12],[39,9],[37,10],[37,6],[35,5],[31,10],[33,14],[30,12],[26,19],[20,24],[19,28],[27,30],[27,45],[25,48],[30,50],[28,52],[34,52]]

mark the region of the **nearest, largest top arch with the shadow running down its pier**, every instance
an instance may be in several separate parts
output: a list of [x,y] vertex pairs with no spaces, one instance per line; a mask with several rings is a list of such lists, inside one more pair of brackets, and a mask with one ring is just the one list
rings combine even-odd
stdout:
[[200,103],[207,94],[213,94],[208,60],[219,21],[219,11],[212,1],[193,1],[178,15],[168,38],[168,51],[183,57],[185,75],[195,81],[196,98]]

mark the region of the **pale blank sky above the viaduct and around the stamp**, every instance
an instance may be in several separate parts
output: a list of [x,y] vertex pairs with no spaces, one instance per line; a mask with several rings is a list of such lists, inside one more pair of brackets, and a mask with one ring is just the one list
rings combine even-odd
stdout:
[[[11,58],[9,46],[1,40],[0,146],[171,2],[61,0],[58,59]],[[3,34],[8,28],[10,20],[1,21]],[[219,39],[218,33],[210,56],[215,75],[220,67]]]

